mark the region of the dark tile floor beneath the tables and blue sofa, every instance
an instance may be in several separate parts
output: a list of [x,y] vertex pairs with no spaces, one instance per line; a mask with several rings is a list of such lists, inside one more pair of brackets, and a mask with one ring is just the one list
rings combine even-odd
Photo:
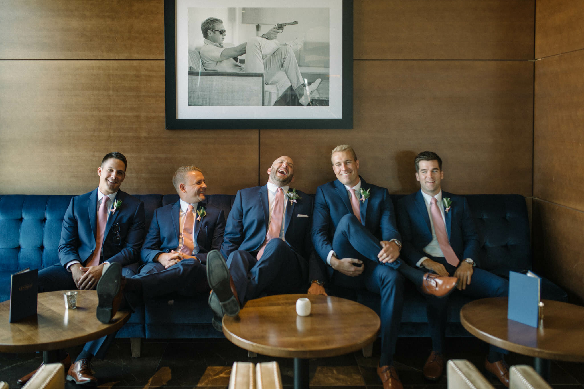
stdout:
[[[321,388],[381,388],[376,374],[379,341],[374,344],[373,357],[363,358],[360,352],[335,358],[310,361],[310,386]],[[406,389],[446,388],[446,376],[436,383],[422,377],[422,366],[430,349],[427,338],[399,338],[395,366]],[[73,356],[81,346],[68,349]],[[447,358],[465,358],[482,370],[487,347],[474,338],[451,338]],[[132,358],[129,339],[117,339],[105,360],[94,360],[93,369],[99,387],[124,389],[164,386],[168,389],[185,387],[226,388],[234,361],[268,362],[280,364],[283,384],[293,387],[293,360],[248,353],[232,345],[227,339],[148,339],[142,342],[142,355]],[[16,380],[39,366],[42,354],[0,353],[0,380],[18,388]],[[507,356],[510,365],[531,364],[533,359],[515,353]],[[502,387],[498,381],[493,385]],[[558,389],[584,389],[584,364],[552,362],[550,384]],[[76,386],[67,383],[67,389]]]

